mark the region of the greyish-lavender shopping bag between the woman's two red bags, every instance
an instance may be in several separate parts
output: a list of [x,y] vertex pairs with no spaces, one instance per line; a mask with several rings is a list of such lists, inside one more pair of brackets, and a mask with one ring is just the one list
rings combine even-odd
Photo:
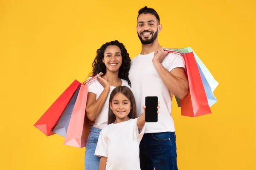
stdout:
[[63,137],[66,136],[67,127],[70,122],[70,117],[73,112],[73,108],[75,106],[79,90],[80,90],[80,86],[79,86],[78,90],[76,91],[75,95],[73,96],[73,98],[70,100],[69,104],[67,105],[67,108],[62,113],[61,118],[59,119],[57,125],[54,127],[52,132],[54,132],[60,136],[63,136]]

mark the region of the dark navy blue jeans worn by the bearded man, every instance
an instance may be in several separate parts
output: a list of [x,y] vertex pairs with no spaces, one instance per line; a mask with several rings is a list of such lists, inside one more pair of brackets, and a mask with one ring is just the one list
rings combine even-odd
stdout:
[[145,133],[140,142],[141,170],[177,170],[175,132]]

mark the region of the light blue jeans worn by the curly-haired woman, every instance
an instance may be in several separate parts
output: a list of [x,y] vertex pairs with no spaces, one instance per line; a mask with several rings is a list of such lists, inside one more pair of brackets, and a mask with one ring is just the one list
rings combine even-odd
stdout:
[[99,156],[95,156],[95,149],[101,129],[91,127],[85,147],[84,168],[85,170],[99,170]]

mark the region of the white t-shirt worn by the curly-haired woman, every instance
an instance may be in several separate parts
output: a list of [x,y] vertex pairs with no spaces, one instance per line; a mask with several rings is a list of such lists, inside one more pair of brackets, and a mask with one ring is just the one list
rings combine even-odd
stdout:
[[[89,77],[90,79],[90,77]],[[122,80],[122,86],[127,86],[129,88],[131,88],[128,85],[128,82],[124,79]],[[108,97],[102,107],[102,111],[99,113],[99,116],[96,117],[95,123],[93,125],[93,127],[95,128],[99,128],[102,129],[103,127],[105,127],[106,125],[108,125],[108,105],[109,105],[109,97],[111,92],[113,91],[113,89],[116,88],[114,86],[110,86],[109,89],[109,93],[108,93]],[[94,93],[96,94],[96,99],[99,98],[99,95],[102,93],[102,91],[104,90],[102,84],[100,84],[100,82],[98,81],[98,79],[94,79],[93,82],[89,85],[88,88],[88,92]]]

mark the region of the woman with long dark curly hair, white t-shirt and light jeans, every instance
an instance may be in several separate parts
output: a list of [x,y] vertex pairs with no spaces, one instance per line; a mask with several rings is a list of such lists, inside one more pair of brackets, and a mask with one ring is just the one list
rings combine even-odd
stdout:
[[131,84],[128,79],[131,59],[125,46],[116,41],[103,44],[97,50],[93,62],[92,76],[100,76],[88,88],[86,114],[90,121],[94,121],[87,139],[84,157],[85,170],[99,170],[98,156],[95,148],[101,129],[108,125],[108,100],[111,91],[119,86]]

